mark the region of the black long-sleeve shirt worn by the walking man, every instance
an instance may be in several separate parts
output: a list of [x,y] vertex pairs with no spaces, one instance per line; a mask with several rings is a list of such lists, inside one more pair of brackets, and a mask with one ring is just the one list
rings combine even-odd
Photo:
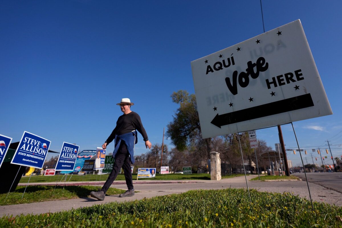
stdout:
[[143,127],[143,124],[141,123],[138,113],[132,111],[128,114],[123,114],[118,118],[115,129],[107,138],[107,145],[114,140],[115,135],[126,134],[134,130],[138,130],[140,132],[145,142],[148,140],[147,133]]

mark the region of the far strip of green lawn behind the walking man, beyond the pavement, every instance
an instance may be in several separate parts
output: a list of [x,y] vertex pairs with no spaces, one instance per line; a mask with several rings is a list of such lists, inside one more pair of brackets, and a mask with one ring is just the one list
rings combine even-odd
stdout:
[[[103,175],[85,175],[78,176],[69,174],[66,176],[66,181],[105,181],[109,174]],[[222,178],[230,178],[235,176],[240,176],[244,174],[237,174],[232,176],[222,176]],[[55,175],[55,176],[31,176],[30,183],[44,183],[44,182],[59,182],[62,179],[63,175]],[[133,180],[136,180],[136,174],[132,175]],[[19,183],[27,183],[29,177],[22,177]],[[116,180],[124,180],[125,177],[123,174],[119,174]],[[63,178],[62,182],[64,182],[65,178]],[[140,180],[210,180],[210,174],[206,173],[194,173],[194,174],[156,174],[154,178],[140,178]]]

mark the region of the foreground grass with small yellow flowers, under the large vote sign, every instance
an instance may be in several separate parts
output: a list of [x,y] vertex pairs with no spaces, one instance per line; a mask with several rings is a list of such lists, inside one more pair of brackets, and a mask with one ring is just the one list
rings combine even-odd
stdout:
[[0,227],[342,227],[342,207],[290,193],[195,190],[42,215],[0,218]]

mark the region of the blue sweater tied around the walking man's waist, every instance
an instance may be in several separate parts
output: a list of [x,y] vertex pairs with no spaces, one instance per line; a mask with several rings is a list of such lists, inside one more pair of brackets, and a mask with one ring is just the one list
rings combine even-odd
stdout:
[[132,131],[122,135],[115,135],[115,148],[113,151],[113,158],[119,150],[120,144],[126,144],[127,150],[130,155],[131,163],[134,164],[134,144],[138,143],[138,137],[136,131]]

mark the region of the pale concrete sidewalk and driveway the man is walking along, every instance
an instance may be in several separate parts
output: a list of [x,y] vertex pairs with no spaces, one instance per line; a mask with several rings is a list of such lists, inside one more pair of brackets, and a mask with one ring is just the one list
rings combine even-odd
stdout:
[[[257,176],[257,175],[256,175]],[[250,181],[255,175],[247,176],[249,188],[258,191],[268,192],[293,192],[294,195],[309,199],[308,189],[305,181],[277,181],[260,182]],[[171,183],[170,183],[171,182]],[[54,183],[55,184],[55,183]],[[326,202],[342,206],[342,193],[325,188],[314,183],[309,183],[311,196],[314,201]],[[114,182],[111,187],[127,189],[126,183]],[[73,208],[92,206],[108,202],[124,202],[131,200],[141,200],[143,198],[152,198],[155,196],[169,195],[173,193],[182,193],[188,190],[196,189],[224,189],[224,188],[246,188],[244,176],[225,178],[219,181],[213,180],[187,180],[180,181],[138,181],[134,183],[134,189],[140,191],[133,197],[119,198],[118,195],[106,196],[104,201],[98,201],[94,198],[78,198],[71,200],[58,200],[39,203],[28,203],[18,205],[0,206],[0,215],[19,215],[19,214],[41,214],[48,212],[67,211]]]

